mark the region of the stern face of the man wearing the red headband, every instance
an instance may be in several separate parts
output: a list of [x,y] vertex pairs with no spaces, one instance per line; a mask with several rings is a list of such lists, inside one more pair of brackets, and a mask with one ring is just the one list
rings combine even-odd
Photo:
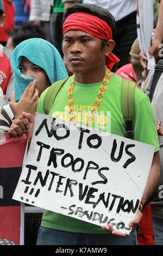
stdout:
[[102,49],[101,39],[83,31],[66,32],[62,50],[74,74],[96,70],[105,64],[105,47]]

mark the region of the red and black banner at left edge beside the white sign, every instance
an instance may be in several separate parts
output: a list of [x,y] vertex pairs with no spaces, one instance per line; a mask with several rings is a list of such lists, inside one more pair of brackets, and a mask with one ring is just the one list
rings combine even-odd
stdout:
[[22,171],[26,145],[26,133],[11,137],[0,132],[0,240],[5,244],[21,245],[23,241],[21,202],[12,196]]

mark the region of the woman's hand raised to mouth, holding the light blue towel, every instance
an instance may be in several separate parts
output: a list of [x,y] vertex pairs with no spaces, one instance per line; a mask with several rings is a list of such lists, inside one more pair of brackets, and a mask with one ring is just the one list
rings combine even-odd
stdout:
[[39,91],[35,88],[36,80],[30,82],[24,90],[18,102],[15,102],[15,92],[12,92],[10,99],[10,108],[15,116],[15,119],[22,114],[22,112],[35,114],[37,104],[39,102]]

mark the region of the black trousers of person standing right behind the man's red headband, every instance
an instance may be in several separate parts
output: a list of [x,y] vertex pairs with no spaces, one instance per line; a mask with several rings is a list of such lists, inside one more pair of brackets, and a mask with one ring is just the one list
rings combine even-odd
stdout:
[[130,63],[130,50],[133,42],[137,38],[136,30],[136,11],[116,22],[115,33],[113,40],[115,48],[112,51],[120,62],[115,64],[111,71],[115,72],[121,66]]

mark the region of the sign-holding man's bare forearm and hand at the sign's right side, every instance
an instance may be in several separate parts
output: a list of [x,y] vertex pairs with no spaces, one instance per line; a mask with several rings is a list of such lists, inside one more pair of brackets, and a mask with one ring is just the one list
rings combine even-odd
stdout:
[[[151,194],[153,193],[153,191],[156,188],[156,185],[159,182],[160,171],[161,171],[160,155],[159,155],[159,151],[157,151],[154,153],[151,170],[150,170],[147,184],[146,184],[146,188],[145,188],[145,191],[143,192],[143,197],[145,197],[146,200],[151,196]],[[134,220],[129,222],[129,227],[132,227],[131,233],[133,233],[136,230],[136,227],[140,223],[141,219],[142,219],[142,213],[140,210],[138,210]],[[126,234],[123,234],[121,232],[114,230],[114,228],[112,227],[111,224],[109,224],[108,227],[102,226],[102,228],[105,231],[107,231],[108,233],[111,233],[113,235],[121,236],[124,238],[127,237]]]

